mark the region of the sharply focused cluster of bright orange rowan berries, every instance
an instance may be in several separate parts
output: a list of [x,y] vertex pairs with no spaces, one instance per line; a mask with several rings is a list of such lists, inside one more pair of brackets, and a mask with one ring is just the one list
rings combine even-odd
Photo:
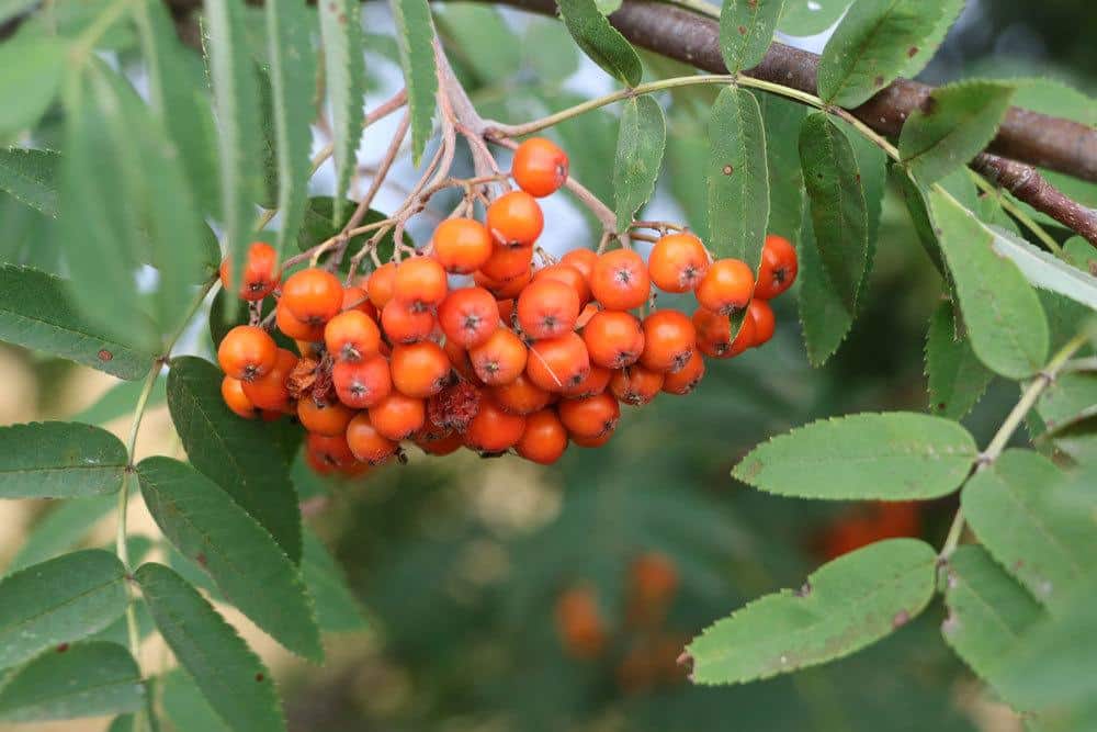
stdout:
[[[687,232],[659,238],[646,262],[629,248],[552,260],[535,245],[536,199],[565,183],[567,166],[553,143],[524,142],[511,169],[518,190],[491,201],[483,223],[448,218],[422,254],[346,286],[315,267],[281,282],[274,251],[253,244],[238,294],[276,296],[274,323],[299,353],[259,324],[230,330],[217,353],[226,404],[245,418],[295,415],[324,473],[359,474],[400,457],[405,441],[436,455],[512,450],[547,464],[570,442],[609,440],[622,403],[688,394],[702,356],[770,339],[768,301],[796,275],[785,239],[767,238],[757,283],[739,260],[711,261]],[[227,263],[222,280],[228,286]],[[656,308],[653,284],[692,292],[699,307],[692,317]]]

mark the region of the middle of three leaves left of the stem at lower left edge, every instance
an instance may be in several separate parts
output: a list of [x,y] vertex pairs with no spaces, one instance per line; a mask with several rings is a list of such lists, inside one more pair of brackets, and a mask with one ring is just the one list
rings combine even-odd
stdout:
[[126,609],[125,574],[114,554],[89,549],[0,579],[0,668],[111,624]]

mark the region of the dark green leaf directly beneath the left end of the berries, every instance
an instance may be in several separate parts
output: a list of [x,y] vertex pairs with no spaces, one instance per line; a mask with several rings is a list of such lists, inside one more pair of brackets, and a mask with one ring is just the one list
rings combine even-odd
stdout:
[[222,373],[208,361],[171,362],[168,408],[191,464],[231,496],[301,561],[301,511],[290,468],[271,441],[270,427],[240,419],[220,396]]

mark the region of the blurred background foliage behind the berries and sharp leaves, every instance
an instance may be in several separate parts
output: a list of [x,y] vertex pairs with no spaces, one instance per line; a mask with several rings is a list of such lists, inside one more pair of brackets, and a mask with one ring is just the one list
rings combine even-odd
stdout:
[[[450,56],[485,116],[522,121],[608,88],[551,20],[479,4],[436,10]],[[399,83],[391,21],[373,5],[365,18],[370,93],[381,99]],[[923,77],[1045,75],[1093,92],[1097,46],[1085,27],[1093,18],[1088,0],[970,0]],[[261,26],[260,18],[253,22]],[[134,44],[132,34],[117,32],[123,67]],[[813,44],[822,45],[806,42]],[[651,76],[682,72],[651,55],[645,63]],[[140,69],[133,74],[139,88]],[[702,233],[704,182],[695,161],[706,155],[710,94],[697,89],[665,99],[667,168],[646,215]],[[575,177],[606,200],[612,199],[614,115],[593,112],[553,133]],[[768,121],[779,129],[781,119]],[[35,144],[49,146],[58,129],[59,120],[47,117]],[[384,129],[374,132],[363,160],[381,153]],[[794,145],[793,135],[777,137],[772,155],[782,154],[781,137]],[[792,149],[789,167],[796,165]],[[404,168],[410,177],[409,164]],[[330,181],[330,171],[321,171],[315,192],[329,192]],[[592,246],[578,210],[555,199],[547,205],[548,248]],[[790,222],[799,212],[774,215],[772,228],[796,234]],[[423,217],[412,234],[425,240],[431,224]],[[47,218],[0,195],[0,259],[57,270]],[[825,368],[807,364],[793,294],[774,302],[779,328],[766,348],[710,362],[690,397],[664,395],[643,412],[626,409],[608,446],[573,447],[551,469],[454,455],[412,459],[355,483],[299,473],[308,521],[347,573],[367,629],[337,637],[323,669],[279,661],[294,729],[1019,729],[943,644],[939,605],[866,652],[792,677],[698,688],[675,663],[692,634],[751,597],[798,586],[833,554],[894,533],[941,541],[954,497],[882,510],[767,496],[728,476],[754,444],[811,419],[926,408],[923,344],[940,282],[892,188],[879,241],[863,314]],[[4,424],[71,416],[110,385],[101,374],[2,348]],[[203,333],[192,334],[190,349],[208,349]],[[964,420],[980,443],[1015,399],[1014,385],[992,383]],[[161,424],[159,431],[155,449],[177,450],[169,429]],[[150,441],[143,440],[143,451]],[[48,510],[36,506],[3,519],[4,561]],[[642,558],[671,567],[669,589],[657,598],[637,590]],[[576,593],[592,601],[597,618],[586,643],[562,632],[561,598]]]

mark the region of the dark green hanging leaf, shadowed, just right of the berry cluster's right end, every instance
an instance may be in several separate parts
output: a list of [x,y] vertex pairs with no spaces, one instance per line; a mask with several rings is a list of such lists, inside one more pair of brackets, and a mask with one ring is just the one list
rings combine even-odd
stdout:
[[800,127],[800,164],[823,269],[852,313],[869,251],[868,204],[853,148],[827,115],[814,112]]

